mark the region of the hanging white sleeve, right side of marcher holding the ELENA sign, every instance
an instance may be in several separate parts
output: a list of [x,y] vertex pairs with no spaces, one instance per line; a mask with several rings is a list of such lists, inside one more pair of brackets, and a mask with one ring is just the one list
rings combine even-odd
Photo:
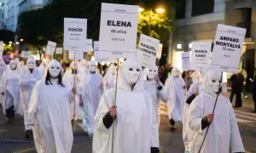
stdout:
[[154,107],[153,107],[153,101],[151,99],[151,96],[146,92],[145,93],[145,98],[147,100],[147,105],[148,105],[148,115],[149,119],[151,120],[151,137],[150,137],[150,144],[151,147],[157,147],[159,148],[159,131],[158,131],[158,121],[155,116],[154,112]]

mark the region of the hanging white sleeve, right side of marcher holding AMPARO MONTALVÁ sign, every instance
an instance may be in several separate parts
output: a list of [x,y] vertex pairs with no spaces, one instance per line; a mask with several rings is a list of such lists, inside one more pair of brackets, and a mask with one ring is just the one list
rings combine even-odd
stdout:
[[242,141],[241,135],[239,132],[239,128],[236,122],[236,116],[233,111],[232,105],[230,104],[230,147],[231,152],[245,152]]

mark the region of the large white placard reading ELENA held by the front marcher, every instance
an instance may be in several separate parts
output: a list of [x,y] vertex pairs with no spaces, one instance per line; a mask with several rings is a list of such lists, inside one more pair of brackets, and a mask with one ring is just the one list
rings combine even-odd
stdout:
[[100,58],[136,58],[138,6],[102,3]]

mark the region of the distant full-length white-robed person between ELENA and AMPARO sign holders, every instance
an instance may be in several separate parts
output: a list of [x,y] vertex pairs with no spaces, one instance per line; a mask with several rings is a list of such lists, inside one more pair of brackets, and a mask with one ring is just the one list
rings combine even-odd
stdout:
[[177,67],[172,68],[172,76],[166,80],[167,113],[171,123],[171,130],[175,130],[175,122],[181,122],[183,116],[183,101],[185,96],[185,82],[181,77],[181,71]]

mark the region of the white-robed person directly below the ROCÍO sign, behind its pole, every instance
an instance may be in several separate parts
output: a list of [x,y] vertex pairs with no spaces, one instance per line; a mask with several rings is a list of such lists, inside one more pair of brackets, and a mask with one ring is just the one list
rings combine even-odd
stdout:
[[[79,61],[72,61],[69,69],[65,72],[63,76],[63,82],[65,82],[70,88],[78,91],[79,84],[81,82],[82,72],[79,71]],[[75,105],[75,106],[74,106]],[[75,107],[75,108],[74,108]],[[79,111],[79,95],[76,93],[75,99],[70,105],[71,119],[77,120],[81,116]],[[75,114],[74,114],[75,112]],[[73,118],[75,116],[75,118]]]

